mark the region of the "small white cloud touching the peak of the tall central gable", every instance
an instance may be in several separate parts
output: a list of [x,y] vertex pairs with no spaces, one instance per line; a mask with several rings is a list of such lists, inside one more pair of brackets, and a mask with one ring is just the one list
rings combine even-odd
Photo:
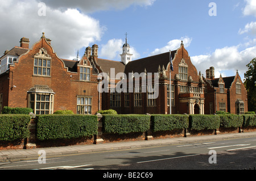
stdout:
[[150,56],[155,54],[160,54],[160,53],[166,53],[166,52],[169,52],[170,50],[176,50],[177,48],[180,47],[181,41],[183,41],[183,44],[185,47],[189,47],[189,45],[191,44],[192,38],[184,36],[184,37],[181,37],[180,39],[171,40],[167,43],[166,46],[162,48],[156,48],[153,52],[150,53]]

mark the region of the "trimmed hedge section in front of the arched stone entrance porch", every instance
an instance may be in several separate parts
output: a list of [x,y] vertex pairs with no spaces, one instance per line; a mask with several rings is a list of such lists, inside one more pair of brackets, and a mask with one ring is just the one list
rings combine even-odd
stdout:
[[218,129],[220,127],[219,115],[189,115],[189,128],[197,131],[204,129]]

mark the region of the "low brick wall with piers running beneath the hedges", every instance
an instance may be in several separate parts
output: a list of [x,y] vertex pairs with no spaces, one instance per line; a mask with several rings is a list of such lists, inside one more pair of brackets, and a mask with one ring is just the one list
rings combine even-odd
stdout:
[[203,130],[195,131],[191,129],[177,129],[174,131],[159,131],[152,132],[151,130],[147,132],[138,133],[128,133],[128,134],[114,134],[114,133],[104,133],[102,125],[102,116],[98,116],[98,134],[85,137],[85,138],[74,138],[74,139],[58,139],[58,140],[47,140],[39,141],[36,139],[36,120],[31,118],[31,123],[28,125],[30,129],[30,137],[15,141],[15,142],[0,142],[1,150],[8,149],[32,149],[32,148],[46,148],[55,146],[69,146],[69,145],[91,145],[91,144],[104,144],[108,142],[123,142],[123,141],[142,141],[142,140],[152,140],[152,139],[164,139],[164,138],[174,138],[174,137],[188,137],[188,136],[203,136],[210,134],[226,134],[226,133],[242,133],[242,132],[255,132],[255,127],[247,128],[219,128],[216,130]]

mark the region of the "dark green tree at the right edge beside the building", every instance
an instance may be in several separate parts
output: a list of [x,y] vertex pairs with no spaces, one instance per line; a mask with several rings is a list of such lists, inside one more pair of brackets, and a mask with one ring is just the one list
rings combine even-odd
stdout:
[[245,87],[248,94],[249,111],[256,111],[256,58],[246,65],[248,70],[245,73]]

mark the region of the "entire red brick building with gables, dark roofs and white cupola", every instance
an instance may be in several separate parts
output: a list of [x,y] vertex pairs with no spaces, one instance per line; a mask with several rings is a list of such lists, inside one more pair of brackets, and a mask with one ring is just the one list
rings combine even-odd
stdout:
[[[247,111],[246,89],[238,73],[233,78],[215,79],[214,74],[204,78],[182,42],[177,50],[134,61],[127,39],[121,61],[98,58],[98,45],[86,48],[81,60],[59,58],[44,34],[32,48],[29,43],[23,37],[20,47],[0,58],[0,110],[10,106],[31,107],[36,114],[57,110],[95,114],[110,108],[123,114]],[[103,79],[98,79],[99,73],[105,73]],[[107,83],[98,86],[99,82]],[[98,87],[105,91],[99,92]]]

